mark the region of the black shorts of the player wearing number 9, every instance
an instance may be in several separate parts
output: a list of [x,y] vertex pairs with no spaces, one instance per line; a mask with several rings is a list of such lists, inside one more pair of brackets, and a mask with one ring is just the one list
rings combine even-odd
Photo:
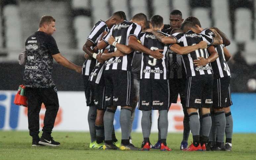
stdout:
[[168,110],[170,106],[169,80],[141,79],[140,110]]

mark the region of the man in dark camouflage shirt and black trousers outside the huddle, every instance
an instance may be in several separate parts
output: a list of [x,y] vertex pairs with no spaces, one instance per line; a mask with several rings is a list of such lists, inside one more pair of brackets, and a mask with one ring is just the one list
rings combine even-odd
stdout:
[[[26,40],[26,63],[24,82],[28,98],[28,129],[32,136],[32,146],[59,146],[60,143],[51,137],[55,118],[59,109],[57,89],[52,79],[53,59],[61,65],[81,73],[82,67],[65,59],[52,37],[56,31],[55,19],[43,16],[37,32]],[[46,112],[42,137],[39,139],[39,112],[44,103]]]

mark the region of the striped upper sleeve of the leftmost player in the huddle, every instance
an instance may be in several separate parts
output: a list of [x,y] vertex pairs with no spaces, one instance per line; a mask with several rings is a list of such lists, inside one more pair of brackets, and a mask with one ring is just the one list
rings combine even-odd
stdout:
[[104,31],[106,31],[106,24],[104,22],[100,22],[98,25],[95,25],[87,37],[87,40],[91,41],[93,44],[97,44],[98,40],[101,38]]

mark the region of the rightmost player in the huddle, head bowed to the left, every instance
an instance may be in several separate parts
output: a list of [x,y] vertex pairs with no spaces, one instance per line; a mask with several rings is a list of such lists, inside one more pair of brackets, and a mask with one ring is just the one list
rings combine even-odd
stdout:
[[[206,28],[202,29],[200,21],[195,17],[188,17],[186,20],[193,22],[198,29],[201,30],[201,34],[205,34],[207,36],[213,36],[214,33]],[[226,128],[226,116],[225,113],[227,113],[227,110],[230,112],[230,106],[232,105],[231,95],[230,95],[230,69],[227,64],[227,61],[230,59],[231,54],[227,50],[225,46],[228,46],[230,44],[229,38],[221,32],[218,28],[216,31],[222,36],[223,38],[223,44],[222,45],[215,45],[215,50],[218,52],[219,58],[217,58],[215,61],[211,62],[212,69],[214,72],[214,81],[213,81],[213,108],[214,108],[214,114],[212,115],[212,121],[215,123],[212,125],[212,129],[209,135],[209,143],[207,145],[207,150],[231,150],[231,140],[232,140],[232,130],[230,134],[226,135],[226,148],[224,144],[224,136],[225,136],[225,128]],[[201,60],[197,61],[200,62]],[[197,63],[196,62],[196,63]],[[225,109],[228,108],[228,109]],[[226,110],[226,112],[225,112]],[[233,120],[230,119],[230,115],[228,114],[228,123],[232,124],[233,126]],[[232,116],[231,116],[232,117]],[[229,130],[229,126],[228,129]],[[217,139],[217,143],[215,143]]]

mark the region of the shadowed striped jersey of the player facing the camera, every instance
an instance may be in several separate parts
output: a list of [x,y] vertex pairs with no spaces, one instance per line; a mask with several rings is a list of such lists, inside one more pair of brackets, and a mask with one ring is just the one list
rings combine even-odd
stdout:
[[[168,28],[165,30],[162,30],[162,32],[170,35],[172,29]],[[169,55],[169,64],[168,64],[168,71],[169,71],[169,78],[170,79],[181,79],[186,78],[186,71],[184,64],[182,62],[182,55],[179,55],[170,49],[168,49],[168,55]]]

